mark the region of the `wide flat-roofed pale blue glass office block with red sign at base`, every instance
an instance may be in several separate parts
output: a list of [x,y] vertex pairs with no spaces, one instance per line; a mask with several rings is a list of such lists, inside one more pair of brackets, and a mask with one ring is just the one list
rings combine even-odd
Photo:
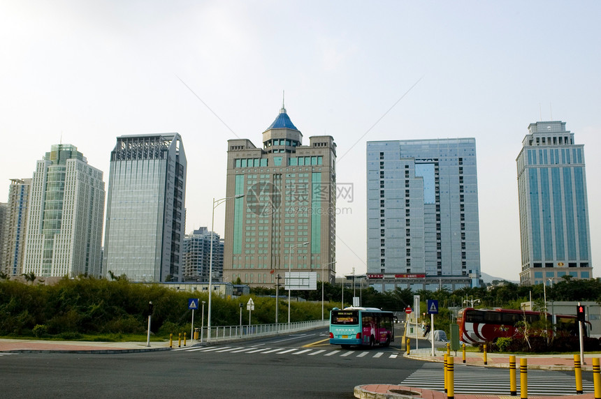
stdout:
[[479,286],[475,139],[368,142],[367,191],[372,287]]

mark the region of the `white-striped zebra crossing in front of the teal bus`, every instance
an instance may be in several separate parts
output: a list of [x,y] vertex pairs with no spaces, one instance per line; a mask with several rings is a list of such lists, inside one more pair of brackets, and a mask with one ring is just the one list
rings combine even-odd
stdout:
[[214,352],[214,353],[236,353],[236,354],[290,354],[305,356],[339,356],[339,357],[357,357],[357,358],[384,358],[396,359],[399,352],[373,352],[359,350],[340,350],[340,349],[307,349],[307,348],[286,348],[286,347],[183,347],[173,349],[173,352]]

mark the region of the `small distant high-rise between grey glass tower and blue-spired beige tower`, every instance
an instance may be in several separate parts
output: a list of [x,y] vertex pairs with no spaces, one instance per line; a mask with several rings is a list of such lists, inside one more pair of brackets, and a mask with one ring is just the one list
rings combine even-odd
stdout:
[[219,234],[206,227],[195,229],[184,236],[184,281],[208,282],[211,240],[213,241],[213,281],[222,281],[224,270],[224,244]]

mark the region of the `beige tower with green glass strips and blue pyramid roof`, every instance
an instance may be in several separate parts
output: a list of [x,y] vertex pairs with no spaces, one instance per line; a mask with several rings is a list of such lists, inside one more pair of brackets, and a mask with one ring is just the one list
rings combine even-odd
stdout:
[[273,287],[290,269],[333,281],[336,144],[302,140],[282,106],[263,148],[228,141],[224,280]]

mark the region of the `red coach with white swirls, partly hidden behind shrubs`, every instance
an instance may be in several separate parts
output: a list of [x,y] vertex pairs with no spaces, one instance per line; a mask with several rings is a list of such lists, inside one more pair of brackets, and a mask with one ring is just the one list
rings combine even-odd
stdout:
[[[543,314],[544,315],[544,314]],[[544,317],[544,316],[542,316]],[[556,331],[567,331],[578,334],[575,315],[549,315],[546,314],[549,326]],[[465,308],[459,310],[457,324],[459,324],[459,337],[463,342],[474,344],[484,342],[495,342],[500,337],[519,336],[516,323],[526,320],[533,324],[541,319],[540,312],[515,309],[474,309]],[[584,335],[591,328],[591,323],[584,322]],[[553,331],[551,329],[551,332]]]

